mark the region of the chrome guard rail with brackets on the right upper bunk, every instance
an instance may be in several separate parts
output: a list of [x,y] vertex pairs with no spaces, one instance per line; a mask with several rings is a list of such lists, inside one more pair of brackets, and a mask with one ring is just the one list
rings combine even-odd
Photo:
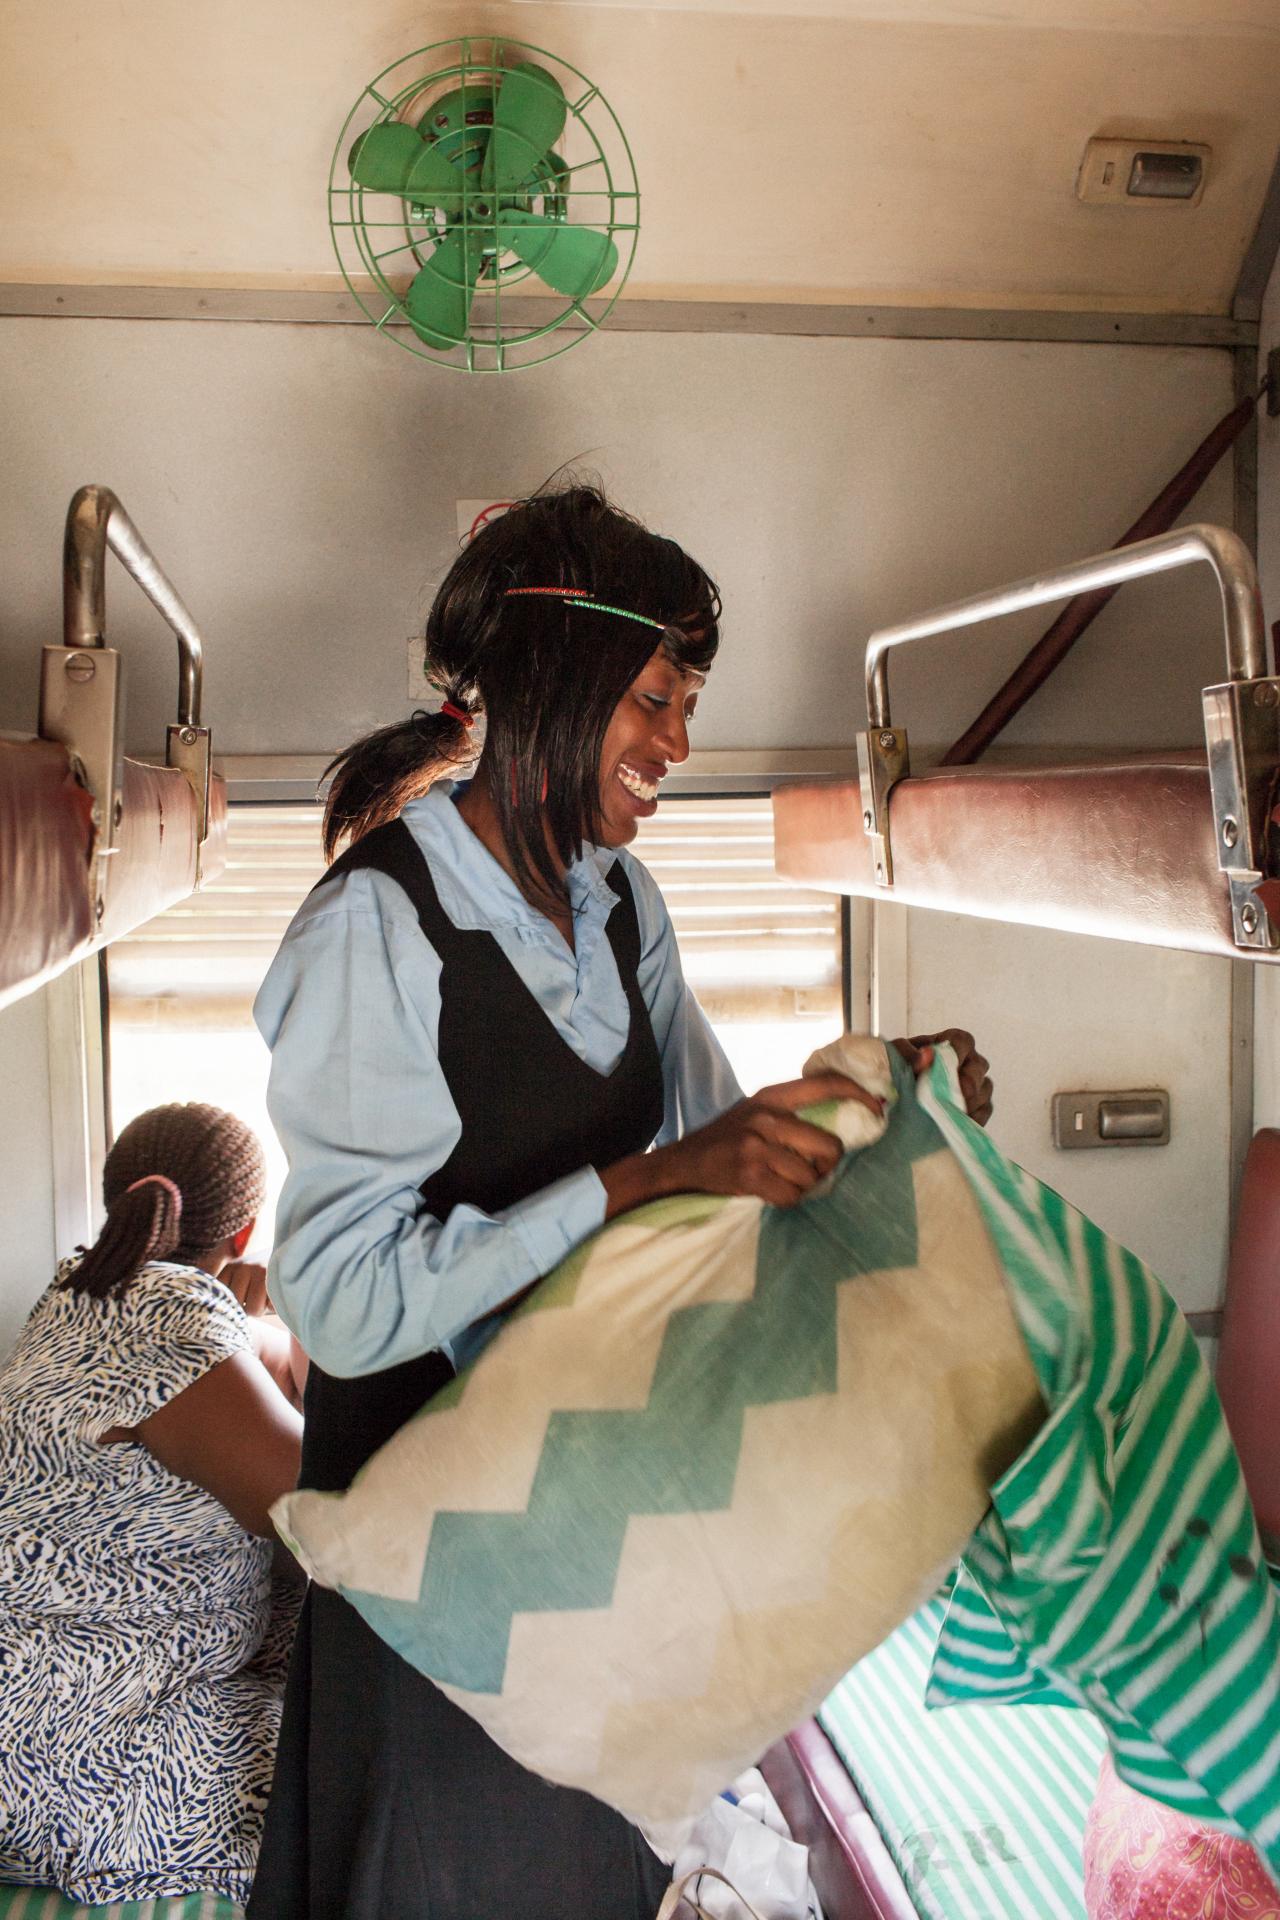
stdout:
[[1050,574],[992,588],[936,607],[915,620],[881,628],[867,641],[867,732],[858,735],[862,824],[871,841],[875,881],[892,891],[889,803],[910,778],[906,728],[889,712],[889,651],[979,620],[1021,612],[1096,588],[1121,586],[1148,574],[1203,563],[1213,568],[1222,601],[1226,682],[1205,687],[1205,743],[1219,870],[1226,876],[1236,947],[1253,952],[1280,948],[1255,889],[1267,874],[1267,828],[1280,772],[1280,680],[1267,674],[1267,641],[1257,570],[1245,543],[1221,526],[1186,526],[1113,553],[1075,561]]

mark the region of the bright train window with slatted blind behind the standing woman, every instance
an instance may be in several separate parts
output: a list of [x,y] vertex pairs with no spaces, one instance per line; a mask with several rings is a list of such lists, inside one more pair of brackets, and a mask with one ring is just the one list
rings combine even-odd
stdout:
[[[662,887],[685,973],[739,1081],[754,1091],[794,1077],[842,1027],[841,900],[777,879],[768,799],[664,801],[633,851]],[[232,806],[225,874],[107,950],[111,1127],[165,1100],[240,1114],[269,1160],[259,1256],[284,1156],[253,996],[322,872],[319,806]]]

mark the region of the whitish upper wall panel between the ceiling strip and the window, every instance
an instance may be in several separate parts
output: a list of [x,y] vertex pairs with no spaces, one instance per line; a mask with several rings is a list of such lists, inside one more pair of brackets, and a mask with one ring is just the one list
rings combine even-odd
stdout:
[[[564,461],[720,578],[704,747],[852,743],[865,636],[1109,545],[1230,405],[1211,349],[603,334],[466,380],[347,326],[0,324],[0,726],[33,726],[75,486],[125,499],[205,626],[223,753],[322,753],[409,707],[405,636],[455,501]],[[1196,505],[1230,516],[1222,470]],[[1165,745],[1221,678],[1207,576],[1130,588],[1009,741]],[[129,735],[173,716],[167,632],[111,566]],[[913,741],[960,732],[1042,632],[1032,612],[894,664]]]

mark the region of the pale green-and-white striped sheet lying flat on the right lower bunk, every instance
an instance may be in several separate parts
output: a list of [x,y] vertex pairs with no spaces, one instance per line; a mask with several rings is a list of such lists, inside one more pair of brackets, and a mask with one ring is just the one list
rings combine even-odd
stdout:
[[1082,1920],[1084,1816],[1105,1736],[1071,1707],[927,1713],[944,1599],[819,1709],[921,1920]]

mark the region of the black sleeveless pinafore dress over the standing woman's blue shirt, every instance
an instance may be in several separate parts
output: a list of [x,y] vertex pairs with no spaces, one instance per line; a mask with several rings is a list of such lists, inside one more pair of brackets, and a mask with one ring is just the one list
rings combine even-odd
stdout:
[[[462,1202],[493,1213],[652,1142],[662,1064],[618,866],[606,933],[631,1021],[608,1075],[560,1039],[489,933],[453,925],[403,822],[361,839],[320,885],[368,866],[403,887],[441,960],[439,1062],[462,1133],[422,1183],[436,1219]],[[443,1354],[355,1380],[311,1367],[301,1484],[345,1488],[451,1379]],[[620,1812],[526,1772],[340,1594],[311,1588],[249,1920],[652,1920],[668,1880]]]

